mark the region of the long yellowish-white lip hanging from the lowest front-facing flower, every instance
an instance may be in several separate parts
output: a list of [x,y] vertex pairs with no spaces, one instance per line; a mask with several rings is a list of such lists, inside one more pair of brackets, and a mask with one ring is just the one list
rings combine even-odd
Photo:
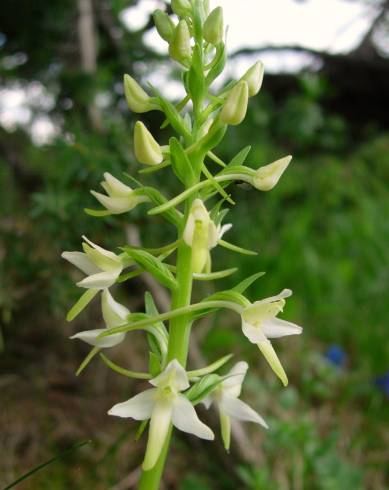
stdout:
[[142,468],[151,470],[158,461],[166,437],[168,436],[172,416],[172,405],[168,401],[158,401],[151,414],[149,439]]

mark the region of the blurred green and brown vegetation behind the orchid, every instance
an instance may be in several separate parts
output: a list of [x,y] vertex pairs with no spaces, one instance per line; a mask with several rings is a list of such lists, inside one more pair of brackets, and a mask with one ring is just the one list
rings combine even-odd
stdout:
[[[79,292],[60,253],[77,249],[82,234],[114,247],[126,239],[126,223],[136,224],[147,244],[168,241],[171,230],[159,218],[149,219],[145,208],[105,220],[82,212],[94,204],[88,191],[97,188],[104,171],[139,177],[131,150],[134,117],[123,103],[121,77],[124,72],[144,75],[143,62],[152,67],[163,59],[143,43],[149,25],[129,32],[120,23],[120,12],[137,2],[94,2],[94,72],[80,61],[79,2],[16,3],[5,0],[1,6],[1,88],[39,83],[53,103],[43,109],[27,101],[29,123],[12,132],[0,129],[0,389],[5,407],[0,484],[91,438],[92,447],[53,463],[23,488],[130,488],[130,483],[115,485],[131,477],[140,461],[135,424],[118,424],[105,412],[134,386],[97,363],[85,379],[74,378],[85,350],[66,337],[72,328],[95,325],[99,316],[92,308],[76,327],[65,325]],[[23,18],[28,22],[20,22]],[[192,440],[178,437],[167,488],[384,490],[389,485],[387,388],[376,382],[389,369],[389,132],[380,121],[361,125],[363,114],[356,123],[330,107],[336,87],[324,74],[290,79],[293,88],[280,96],[274,87],[282,85],[283,76],[268,77],[245,123],[232,129],[220,148],[220,157],[228,161],[252,145],[248,162],[254,167],[294,155],[272,192],[243,185],[233,189],[239,206],[229,215],[234,223],[229,239],[259,254],[253,260],[217,250],[213,256],[216,269],[240,263],[226,285],[266,271],[251,287],[253,300],[293,289],[287,316],[304,325],[304,335],[288,344],[292,349],[283,350],[278,342],[291,386],[281,389],[268,376],[265,363],[240,335],[237,318],[216,318],[212,329],[200,326],[206,357],[233,346],[237,357],[249,360],[247,396],[271,429],[266,434],[250,430],[254,462],[236,449],[229,458],[221,448],[200,442],[193,447]],[[104,104],[98,103],[102,95]],[[29,129],[42,113],[58,125],[59,135],[37,146]],[[147,118],[157,131],[162,121],[155,114]],[[162,140],[168,135],[164,130]],[[174,195],[168,173],[143,178]],[[142,308],[144,287],[137,279],[120,294]],[[142,362],[137,342],[129,354],[117,353],[123,364],[128,358]],[[344,353],[340,365],[327,355],[332,345]]]

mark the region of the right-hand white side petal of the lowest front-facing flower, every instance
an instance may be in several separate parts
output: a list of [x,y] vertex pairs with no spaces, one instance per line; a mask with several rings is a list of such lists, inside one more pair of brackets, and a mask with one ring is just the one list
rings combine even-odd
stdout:
[[173,402],[172,422],[177,429],[201,439],[212,441],[215,438],[211,429],[198,418],[193,405],[184,395],[177,395]]

